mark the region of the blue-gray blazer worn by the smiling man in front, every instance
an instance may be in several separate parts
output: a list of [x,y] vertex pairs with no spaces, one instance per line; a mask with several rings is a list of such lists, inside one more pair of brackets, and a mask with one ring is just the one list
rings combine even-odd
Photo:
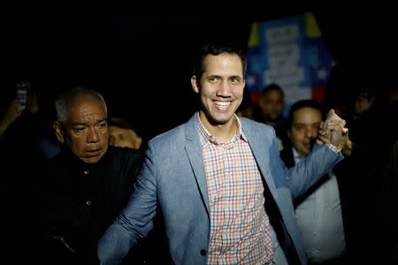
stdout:
[[[302,264],[304,247],[292,200],[325,175],[342,155],[316,145],[310,155],[287,169],[279,158],[272,126],[241,118],[256,163],[276,202]],[[98,242],[103,264],[118,264],[129,249],[153,228],[157,203],[175,264],[205,264],[210,235],[209,195],[196,116],[149,140],[146,158],[130,201]],[[157,250],[153,250],[156,255]]]

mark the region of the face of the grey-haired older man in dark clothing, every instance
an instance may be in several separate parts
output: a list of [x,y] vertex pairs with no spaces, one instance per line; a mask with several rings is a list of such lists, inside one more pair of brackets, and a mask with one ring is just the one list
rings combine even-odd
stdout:
[[103,103],[89,97],[81,99],[67,117],[63,131],[56,127],[57,139],[84,163],[97,163],[108,149],[109,140]]

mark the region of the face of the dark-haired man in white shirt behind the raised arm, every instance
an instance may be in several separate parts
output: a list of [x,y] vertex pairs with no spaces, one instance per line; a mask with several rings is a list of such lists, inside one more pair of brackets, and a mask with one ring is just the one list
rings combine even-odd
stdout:
[[310,154],[318,137],[321,122],[322,114],[319,110],[305,107],[295,111],[293,122],[290,130],[287,131],[287,135],[292,141],[295,150],[302,157]]

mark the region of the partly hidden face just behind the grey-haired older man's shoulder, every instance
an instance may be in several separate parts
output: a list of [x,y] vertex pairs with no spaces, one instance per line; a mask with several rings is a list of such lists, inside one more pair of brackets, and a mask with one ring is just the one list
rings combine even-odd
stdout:
[[135,134],[132,129],[110,125],[109,143],[113,147],[140,149],[142,138]]

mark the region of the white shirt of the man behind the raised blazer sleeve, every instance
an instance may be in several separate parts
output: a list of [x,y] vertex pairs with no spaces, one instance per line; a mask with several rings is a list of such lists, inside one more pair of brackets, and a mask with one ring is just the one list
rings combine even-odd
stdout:
[[[293,155],[295,163],[302,160],[295,148]],[[332,171],[325,182],[295,208],[295,217],[309,261],[329,261],[345,251],[340,193]]]

